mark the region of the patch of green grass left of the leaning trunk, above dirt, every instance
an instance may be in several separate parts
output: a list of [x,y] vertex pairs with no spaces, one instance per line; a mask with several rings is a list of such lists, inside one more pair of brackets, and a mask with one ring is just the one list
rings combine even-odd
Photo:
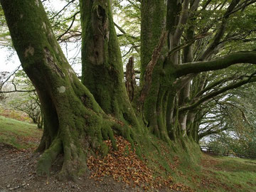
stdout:
[[41,139],[42,131],[35,124],[21,122],[0,116],[0,142],[17,149],[35,148]]

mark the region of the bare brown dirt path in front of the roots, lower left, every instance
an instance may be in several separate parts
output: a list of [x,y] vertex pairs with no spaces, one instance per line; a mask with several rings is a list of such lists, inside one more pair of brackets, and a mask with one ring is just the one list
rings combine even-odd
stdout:
[[0,192],[10,191],[139,191],[124,183],[118,183],[112,178],[104,178],[95,181],[82,177],[78,183],[71,181],[58,181],[55,171],[51,172],[50,178],[36,177],[36,162],[38,154],[32,151],[18,151],[11,146],[0,144]]

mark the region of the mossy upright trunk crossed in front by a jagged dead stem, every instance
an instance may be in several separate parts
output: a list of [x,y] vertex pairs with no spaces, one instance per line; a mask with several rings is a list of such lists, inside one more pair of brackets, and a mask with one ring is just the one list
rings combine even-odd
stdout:
[[[166,28],[166,4],[164,1],[142,1],[141,27],[141,85],[144,86],[144,75],[151,60],[154,48],[159,44],[162,31]],[[164,55],[167,52],[167,43],[161,50],[161,55],[154,67],[151,86],[143,105],[144,122],[157,137],[169,141],[166,129],[166,104],[169,89],[161,85],[164,70]]]

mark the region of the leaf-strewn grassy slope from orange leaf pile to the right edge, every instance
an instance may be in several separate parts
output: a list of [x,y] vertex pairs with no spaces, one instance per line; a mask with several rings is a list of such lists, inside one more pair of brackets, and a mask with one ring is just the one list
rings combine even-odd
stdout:
[[159,142],[159,149],[151,149],[149,154],[148,165],[156,176],[171,175],[174,186],[181,188],[176,191],[256,191],[256,160],[210,156],[198,151],[194,144],[187,145],[187,150],[175,146],[175,154],[171,147]]

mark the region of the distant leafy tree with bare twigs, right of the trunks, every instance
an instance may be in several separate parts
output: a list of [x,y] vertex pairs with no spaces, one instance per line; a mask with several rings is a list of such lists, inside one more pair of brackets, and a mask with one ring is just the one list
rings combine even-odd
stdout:
[[208,122],[205,119],[205,127],[201,132],[209,133],[208,145],[213,147],[213,150],[220,153],[232,151],[240,156],[256,157],[256,103],[251,99],[253,95],[255,85],[253,88],[241,87],[230,91],[228,97],[218,102],[218,107],[213,107],[215,113]]

